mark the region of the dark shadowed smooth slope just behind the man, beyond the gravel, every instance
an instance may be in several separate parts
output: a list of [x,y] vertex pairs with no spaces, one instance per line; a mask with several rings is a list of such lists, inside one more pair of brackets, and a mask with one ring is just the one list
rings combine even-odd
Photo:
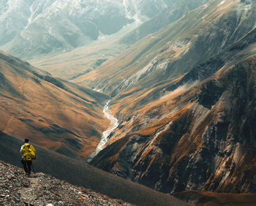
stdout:
[[[20,145],[22,141],[0,132],[0,160],[21,167]],[[91,167],[83,161],[70,159],[32,142],[37,152],[34,161],[36,172],[50,174],[75,186],[82,186],[112,199],[123,199],[135,205],[187,205],[168,194],[146,188],[138,183],[119,178],[109,172]],[[53,188],[52,188],[53,189]]]

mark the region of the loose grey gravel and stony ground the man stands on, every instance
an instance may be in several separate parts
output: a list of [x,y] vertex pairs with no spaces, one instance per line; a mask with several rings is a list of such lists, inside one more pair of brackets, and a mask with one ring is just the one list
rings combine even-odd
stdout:
[[131,205],[0,161],[0,205]]

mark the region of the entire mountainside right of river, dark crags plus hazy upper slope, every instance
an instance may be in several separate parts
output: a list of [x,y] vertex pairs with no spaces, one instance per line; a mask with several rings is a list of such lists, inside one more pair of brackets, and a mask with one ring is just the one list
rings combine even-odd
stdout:
[[120,123],[91,164],[165,193],[255,192],[255,8],[209,1],[84,76]]

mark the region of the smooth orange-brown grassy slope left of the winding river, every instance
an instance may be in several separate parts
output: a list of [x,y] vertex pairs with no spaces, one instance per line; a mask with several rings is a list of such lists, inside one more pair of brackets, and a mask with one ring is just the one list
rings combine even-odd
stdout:
[[74,158],[97,147],[107,96],[0,53],[0,130]]

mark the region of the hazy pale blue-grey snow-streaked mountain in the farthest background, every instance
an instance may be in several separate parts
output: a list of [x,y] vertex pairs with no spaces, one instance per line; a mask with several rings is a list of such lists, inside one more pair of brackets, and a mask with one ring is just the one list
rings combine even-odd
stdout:
[[21,58],[61,53],[154,17],[176,0],[1,0],[0,47]]

